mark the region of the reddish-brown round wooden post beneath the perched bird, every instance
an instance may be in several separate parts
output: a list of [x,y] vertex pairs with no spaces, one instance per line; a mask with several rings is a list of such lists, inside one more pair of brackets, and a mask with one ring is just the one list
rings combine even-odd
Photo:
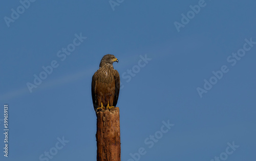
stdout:
[[120,161],[119,108],[97,112],[97,161]]

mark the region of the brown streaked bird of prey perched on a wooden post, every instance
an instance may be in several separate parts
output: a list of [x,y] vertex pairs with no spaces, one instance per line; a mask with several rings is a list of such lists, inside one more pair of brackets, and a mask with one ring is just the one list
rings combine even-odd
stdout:
[[92,77],[92,99],[95,112],[115,108],[120,89],[120,76],[113,63],[118,59],[107,54],[100,61],[99,69]]

